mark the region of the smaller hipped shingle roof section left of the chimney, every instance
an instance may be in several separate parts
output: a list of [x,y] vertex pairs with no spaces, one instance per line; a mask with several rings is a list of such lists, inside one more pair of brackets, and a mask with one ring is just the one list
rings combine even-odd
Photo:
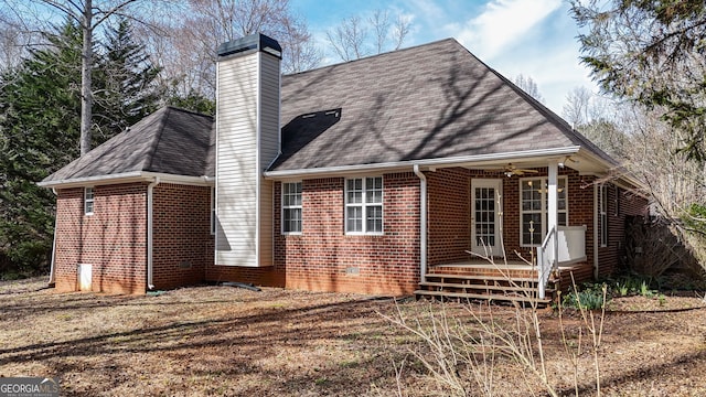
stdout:
[[213,118],[171,106],[161,108],[43,182],[136,171],[202,176]]

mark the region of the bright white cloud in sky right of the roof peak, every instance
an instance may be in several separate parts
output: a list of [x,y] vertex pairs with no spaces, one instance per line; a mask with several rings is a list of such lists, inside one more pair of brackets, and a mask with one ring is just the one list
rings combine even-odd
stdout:
[[463,25],[448,25],[474,54],[492,60],[561,6],[561,0],[492,0]]

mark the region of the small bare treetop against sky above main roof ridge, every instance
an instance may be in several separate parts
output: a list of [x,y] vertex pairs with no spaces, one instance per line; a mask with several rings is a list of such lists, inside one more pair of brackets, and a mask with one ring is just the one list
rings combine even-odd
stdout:
[[[409,34],[410,22],[405,15],[391,17],[388,10],[375,10],[367,19],[353,15],[327,32],[327,41],[342,61],[357,60],[389,50],[399,50]],[[370,43],[370,32],[374,33]]]

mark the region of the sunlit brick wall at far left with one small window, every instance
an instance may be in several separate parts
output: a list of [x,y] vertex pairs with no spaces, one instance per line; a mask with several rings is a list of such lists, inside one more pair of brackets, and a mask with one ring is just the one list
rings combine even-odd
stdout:
[[84,189],[57,191],[56,289],[78,290],[77,265],[93,265],[92,289],[145,293],[147,184],[94,187],[94,214],[84,215]]

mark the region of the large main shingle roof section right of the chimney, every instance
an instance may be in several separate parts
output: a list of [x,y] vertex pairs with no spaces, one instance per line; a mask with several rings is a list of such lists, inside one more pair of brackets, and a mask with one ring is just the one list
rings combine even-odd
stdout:
[[588,146],[453,39],[284,76],[281,104],[277,171]]

